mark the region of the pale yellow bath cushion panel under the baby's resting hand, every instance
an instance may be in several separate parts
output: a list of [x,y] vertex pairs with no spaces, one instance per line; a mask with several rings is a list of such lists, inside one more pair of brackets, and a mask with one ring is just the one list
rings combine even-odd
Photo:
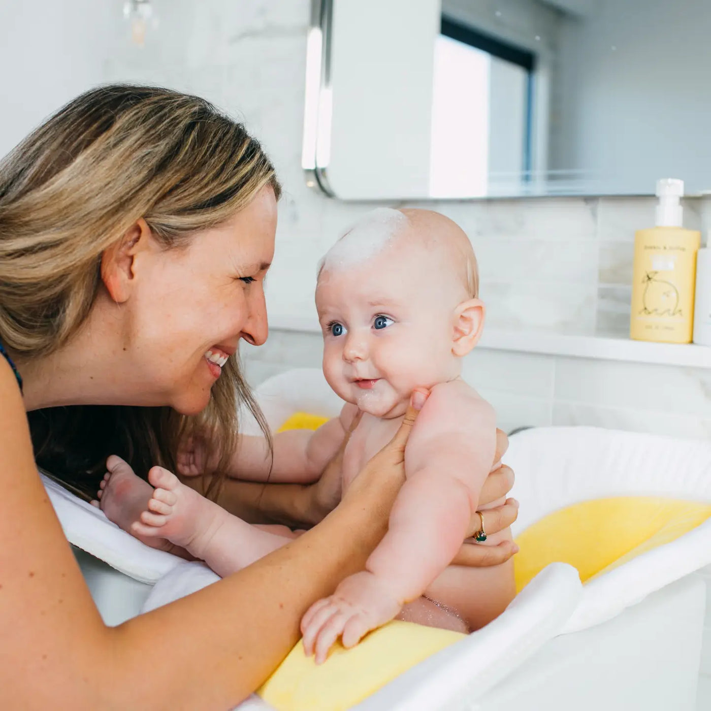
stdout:
[[257,693],[277,711],[346,710],[463,637],[459,632],[395,620],[352,649],[336,643],[318,666],[299,642]]

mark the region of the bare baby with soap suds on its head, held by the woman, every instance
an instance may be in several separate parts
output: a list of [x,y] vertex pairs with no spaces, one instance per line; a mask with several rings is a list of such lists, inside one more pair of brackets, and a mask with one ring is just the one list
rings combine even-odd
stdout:
[[[496,449],[493,410],[460,377],[461,360],[483,326],[477,282],[471,243],[451,220],[429,210],[374,210],[324,257],[316,287],[324,375],[346,401],[341,417],[314,433],[276,435],[273,461],[263,439],[240,440],[232,476],[312,481],[360,410],[343,452],[345,491],[397,431],[412,390],[431,389],[408,440],[407,479],[385,538],[365,570],[343,580],[301,622],[304,646],[315,651],[317,662],[338,637],[353,646],[397,616],[478,629],[514,597],[512,561],[476,569],[449,565],[478,508]],[[184,452],[178,469],[196,474],[199,459],[195,449]],[[105,510],[114,477],[102,483]],[[296,535],[284,527],[250,526],[164,469],[151,470],[150,481],[156,489],[148,510],[130,520],[124,513],[117,523],[144,539],[167,538],[185,547],[218,574],[245,567]],[[510,540],[508,529],[487,543],[504,538]]]

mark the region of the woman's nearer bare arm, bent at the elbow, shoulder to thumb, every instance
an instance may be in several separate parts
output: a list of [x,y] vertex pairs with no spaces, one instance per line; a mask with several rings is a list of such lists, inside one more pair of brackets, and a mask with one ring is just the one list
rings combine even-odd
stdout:
[[[309,605],[362,569],[404,481],[414,411],[313,530],[208,588],[103,624],[33,461],[21,395],[0,363],[0,707],[224,709],[299,638]],[[336,545],[334,545],[336,542]]]

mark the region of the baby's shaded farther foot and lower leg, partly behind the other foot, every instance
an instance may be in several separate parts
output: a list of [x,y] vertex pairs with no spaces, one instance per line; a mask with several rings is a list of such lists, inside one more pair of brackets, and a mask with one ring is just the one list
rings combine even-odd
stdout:
[[155,534],[151,536],[139,535],[133,530],[133,524],[139,520],[141,513],[146,510],[149,501],[151,501],[153,487],[147,481],[136,476],[133,469],[119,456],[109,456],[106,468],[108,471],[99,485],[97,498],[91,502],[92,506],[100,508],[109,521],[127,533],[131,533],[151,548],[186,557],[186,552],[167,538],[161,538]]

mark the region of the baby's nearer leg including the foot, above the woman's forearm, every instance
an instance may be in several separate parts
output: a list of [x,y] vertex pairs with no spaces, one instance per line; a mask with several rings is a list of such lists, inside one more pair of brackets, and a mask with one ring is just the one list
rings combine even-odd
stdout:
[[167,538],[220,576],[247,567],[291,540],[245,523],[160,466],[149,471],[148,479],[156,489],[131,532]]

